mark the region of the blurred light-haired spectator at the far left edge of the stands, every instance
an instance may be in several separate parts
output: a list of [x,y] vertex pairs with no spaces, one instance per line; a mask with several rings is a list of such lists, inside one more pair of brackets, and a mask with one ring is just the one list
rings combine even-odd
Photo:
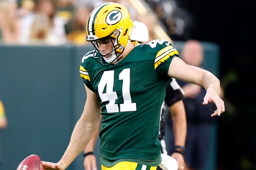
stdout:
[[0,40],[4,43],[17,43],[19,32],[17,3],[8,0],[0,1]]

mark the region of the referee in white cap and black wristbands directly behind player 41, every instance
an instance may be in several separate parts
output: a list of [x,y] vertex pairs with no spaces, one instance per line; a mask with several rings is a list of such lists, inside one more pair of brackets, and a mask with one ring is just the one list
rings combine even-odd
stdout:
[[[138,41],[140,44],[145,44],[149,42],[149,30],[147,26],[138,21],[133,21],[133,33],[131,36],[131,41]],[[169,106],[169,110],[173,119],[173,129],[175,132],[175,150],[173,154],[171,155],[172,158],[175,158],[179,170],[182,170],[186,167],[186,163],[184,160],[184,152],[185,152],[185,141],[186,141],[186,132],[187,132],[187,124],[186,124],[186,113],[185,113],[185,107],[182,101],[183,98],[183,90],[177,83],[177,81],[174,78],[170,78],[170,81],[167,85],[166,88],[166,96],[165,96],[165,101],[162,104],[161,112],[160,112],[160,131],[158,135],[158,140],[161,142],[161,152],[163,154],[167,154],[166,151],[166,143],[163,138],[165,135],[165,121],[164,121],[164,116],[163,112],[166,110],[165,103]],[[96,130],[96,133],[92,137],[91,141],[88,143],[88,145],[85,147],[84,150],[84,161],[83,161],[83,166],[85,170],[97,170],[97,165],[96,165],[96,157],[94,156],[94,146],[96,143],[96,140],[99,135],[99,129],[100,127]],[[161,156],[162,158],[162,164],[164,163],[163,155]],[[173,164],[170,165],[173,167],[174,170],[177,170],[175,165],[177,163],[170,157],[165,156],[167,158],[166,164]],[[170,167],[169,166],[169,167]],[[167,166],[166,166],[167,167]],[[176,168],[176,169],[175,169]],[[157,170],[161,169],[159,166],[157,167]],[[171,170],[171,169],[169,169]]]

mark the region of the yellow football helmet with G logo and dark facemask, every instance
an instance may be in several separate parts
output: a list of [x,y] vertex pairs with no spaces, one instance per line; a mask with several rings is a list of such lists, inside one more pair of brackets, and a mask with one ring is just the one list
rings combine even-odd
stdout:
[[[133,22],[127,8],[119,3],[107,2],[96,7],[90,14],[86,23],[86,41],[90,41],[99,52],[101,64],[111,64],[115,62],[126,46],[130,43],[130,36],[133,31]],[[97,41],[105,38],[114,38],[112,56],[106,58],[99,51]],[[111,41],[112,42],[112,41]],[[94,52],[94,53],[95,53]],[[102,62],[102,58],[105,62]],[[98,60],[97,60],[98,61]],[[99,62],[99,61],[98,61]],[[104,64],[105,63],[105,64]]]

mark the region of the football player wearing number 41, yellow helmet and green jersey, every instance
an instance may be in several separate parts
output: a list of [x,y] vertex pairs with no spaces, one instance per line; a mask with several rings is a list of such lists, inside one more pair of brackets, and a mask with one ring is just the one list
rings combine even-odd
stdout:
[[83,151],[98,128],[102,170],[155,170],[161,163],[160,110],[170,77],[203,86],[202,104],[214,102],[211,116],[225,111],[218,96],[220,82],[207,70],[187,65],[164,40],[130,42],[133,22],[126,7],[107,2],[96,7],[86,24],[86,40],[95,50],[81,59],[86,103],[58,163],[45,170],[65,169]]

